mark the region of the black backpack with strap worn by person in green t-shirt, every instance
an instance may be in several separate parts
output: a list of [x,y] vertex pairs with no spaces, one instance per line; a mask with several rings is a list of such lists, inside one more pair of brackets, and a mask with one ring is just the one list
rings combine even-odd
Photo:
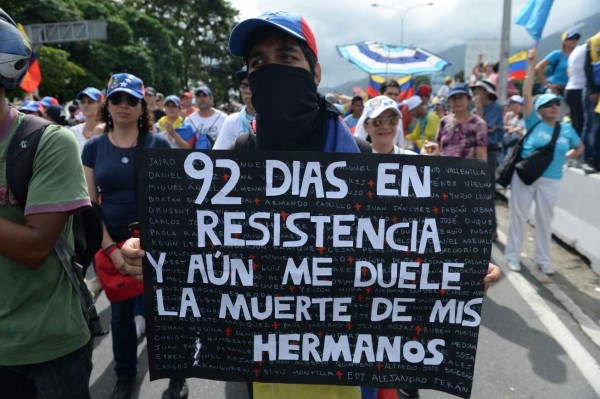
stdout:
[[[29,181],[33,176],[33,160],[42,134],[50,122],[26,115],[15,132],[6,157],[6,181],[15,199],[25,207]],[[102,209],[98,204],[73,215],[74,252],[85,268],[102,246]]]

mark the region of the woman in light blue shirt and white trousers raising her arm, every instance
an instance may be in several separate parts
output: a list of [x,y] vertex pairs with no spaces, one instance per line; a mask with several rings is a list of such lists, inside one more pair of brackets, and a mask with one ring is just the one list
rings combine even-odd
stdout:
[[555,125],[560,123],[560,134],[554,148],[554,158],[542,176],[531,185],[523,183],[517,173],[510,182],[511,194],[508,207],[508,233],[504,256],[508,267],[520,271],[521,247],[525,223],[529,217],[531,203],[535,201],[535,254],[533,261],[547,275],[554,274],[550,260],[550,223],[554,218],[554,205],[558,200],[562,168],[566,158],[575,159],[583,152],[583,143],[575,129],[568,123],[558,121],[561,97],[542,94],[533,101],[536,50],[528,55],[527,77],[523,83],[523,113],[525,127],[531,133],[523,144],[522,157],[550,142]]

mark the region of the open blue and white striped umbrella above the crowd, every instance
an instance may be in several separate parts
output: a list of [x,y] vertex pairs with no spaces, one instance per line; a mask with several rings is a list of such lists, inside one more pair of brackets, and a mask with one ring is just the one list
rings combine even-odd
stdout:
[[336,46],[341,57],[370,75],[422,75],[444,70],[445,59],[422,48],[361,42]]

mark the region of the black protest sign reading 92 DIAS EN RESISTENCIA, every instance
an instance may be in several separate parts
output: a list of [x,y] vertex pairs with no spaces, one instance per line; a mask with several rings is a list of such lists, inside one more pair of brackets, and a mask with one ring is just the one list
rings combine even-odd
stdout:
[[139,165],[151,379],[470,395],[485,163],[148,150]]

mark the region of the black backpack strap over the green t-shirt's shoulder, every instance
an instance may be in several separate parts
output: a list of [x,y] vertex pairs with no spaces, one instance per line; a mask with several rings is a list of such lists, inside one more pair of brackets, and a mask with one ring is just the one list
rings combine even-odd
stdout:
[[22,207],[27,202],[29,181],[33,176],[33,159],[42,133],[49,124],[40,117],[25,115],[8,145],[6,182]]

